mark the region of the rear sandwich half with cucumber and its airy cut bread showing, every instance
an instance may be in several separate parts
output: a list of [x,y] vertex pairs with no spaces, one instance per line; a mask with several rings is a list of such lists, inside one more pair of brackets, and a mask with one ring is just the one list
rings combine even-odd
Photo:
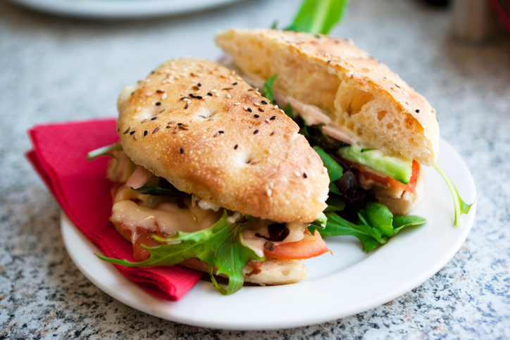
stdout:
[[231,29],[216,44],[249,84],[272,85],[274,102],[342,165],[349,178],[332,178],[331,196],[354,208],[373,197],[399,215],[420,201],[422,166],[439,154],[439,125],[430,103],[386,65],[323,34]]

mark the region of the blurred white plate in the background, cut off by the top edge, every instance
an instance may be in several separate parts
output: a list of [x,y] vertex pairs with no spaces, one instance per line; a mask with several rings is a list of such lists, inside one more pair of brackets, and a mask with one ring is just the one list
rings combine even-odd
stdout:
[[173,15],[241,0],[10,0],[37,11],[79,18],[128,19]]

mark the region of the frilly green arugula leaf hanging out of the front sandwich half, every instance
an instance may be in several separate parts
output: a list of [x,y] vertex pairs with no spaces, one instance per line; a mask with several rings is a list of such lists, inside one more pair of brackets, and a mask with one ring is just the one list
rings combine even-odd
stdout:
[[[223,295],[235,293],[244,283],[242,269],[251,260],[264,260],[256,256],[254,251],[244,246],[242,232],[247,227],[247,221],[229,223],[225,211],[223,216],[212,227],[198,232],[178,232],[173,237],[154,237],[157,241],[166,243],[161,246],[146,247],[151,252],[147,260],[132,263],[128,260],[106,258],[98,256],[101,260],[125,267],[153,267],[156,265],[177,265],[187,258],[199,258],[209,267],[209,275],[214,287]],[[228,287],[224,289],[213,277],[224,274],[228,277]]]

